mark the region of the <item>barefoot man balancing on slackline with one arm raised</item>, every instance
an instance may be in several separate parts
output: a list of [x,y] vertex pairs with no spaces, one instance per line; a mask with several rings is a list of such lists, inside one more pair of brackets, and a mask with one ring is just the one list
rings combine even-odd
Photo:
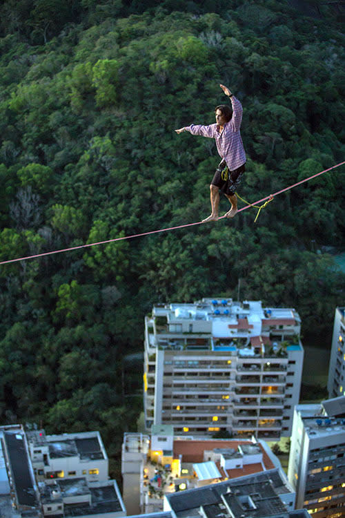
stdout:
[[208,218],[202,220],[203,222],[217,221],[219,217],[219,189],[226,195],[231,204],[231,209],[226,213],[226,218],[233,218],[236,215],[237,197],[235,192],[242,180],[246,162],[246,153],[244,153],[242,138],[239,133],[242,122],[242,104],[224,84],[219,86],[225,95],[230,97],[233,109],[231,110],[230,106],[226,104],[220,104],[215,108],[215,124],[210,124],[210,126],[191,124],[175,130],[176,133],[189,131],[192,135],[214,138],[217,151],[221,156],[221,162],[210,184],[212,212]]

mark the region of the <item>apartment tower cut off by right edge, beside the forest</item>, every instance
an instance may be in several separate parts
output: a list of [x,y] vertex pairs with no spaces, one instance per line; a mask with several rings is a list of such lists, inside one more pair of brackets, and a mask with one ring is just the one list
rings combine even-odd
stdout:
[[345,307],[335,309],[327,389],[330,398],[345,395]]

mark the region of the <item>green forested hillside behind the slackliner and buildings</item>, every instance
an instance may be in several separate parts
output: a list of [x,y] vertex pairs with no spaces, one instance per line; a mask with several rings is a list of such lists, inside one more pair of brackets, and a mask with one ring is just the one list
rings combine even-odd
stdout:
[[[310,2],[315,3],[315,2]],[[214,6],[216,4],[216,6]],[[9,0],[0,7],[0,260],[197,222],[213,141],[175,128],[244,106],[255,202],[344,160],[340,17],[285,1]],[[345,167],[239,213],[146,238],[3,265],[0,419],[99,429],[110,454],[135,427],[153,303],[202,296],[293,306],[329,346],[345,276]],[[221,209],[227,209],[221,200]],[[112,446],[110,446],[110,443]],[[112,448],[112,450],[110,449]]]

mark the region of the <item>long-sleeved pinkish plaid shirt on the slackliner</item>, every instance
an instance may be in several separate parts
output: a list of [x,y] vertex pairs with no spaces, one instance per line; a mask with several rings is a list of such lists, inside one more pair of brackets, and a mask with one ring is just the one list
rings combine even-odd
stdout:
[[192,135],[214,138],[219,155],[222,159],[224,158],[230,171],[235,171],[237,167],[242,166],[246,162],[246,153],[244,153],[241,133],[239,133],[243,108],[236,97],[233,96],[230,99],[233,105],[233,117],[224,124],[221,133],[219,133],[218,124],[210,124],[210,126],[190,124],[190,126],[186,126],[184,129]]

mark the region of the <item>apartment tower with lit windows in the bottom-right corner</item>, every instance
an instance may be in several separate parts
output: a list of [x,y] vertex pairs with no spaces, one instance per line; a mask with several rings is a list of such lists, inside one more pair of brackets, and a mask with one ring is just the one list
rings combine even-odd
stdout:
[[297,508],[345,516],[345,396],[295,407],[288,479]]

